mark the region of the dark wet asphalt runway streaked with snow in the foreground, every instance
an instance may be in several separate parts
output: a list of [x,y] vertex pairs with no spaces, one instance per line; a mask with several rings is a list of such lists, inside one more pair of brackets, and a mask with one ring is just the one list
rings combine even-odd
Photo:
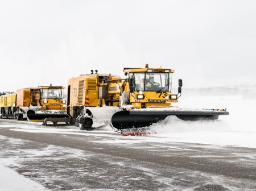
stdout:
[[3,120],[0,145],[1,164],[49,190],[256,190],[255,148],[27,132]]

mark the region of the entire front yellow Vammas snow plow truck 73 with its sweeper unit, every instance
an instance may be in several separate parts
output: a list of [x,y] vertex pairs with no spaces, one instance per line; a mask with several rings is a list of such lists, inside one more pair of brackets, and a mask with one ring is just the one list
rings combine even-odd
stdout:
[[[93,124],[109,123],[122,134],[142,132],[144,127],[170,115],[185,121],[212,120],[228,115],[224,109],[183,109],[172,106],[181,96],[182,80],[177,94],[171,93],[173,69],[125,68],[127,78],[112,74],[84,74],[68,83],[67,113],[81,130],[92,130]],[[61,122],[61,119],[45,119]],[[64,122],[66,122],[64,120]],[[133,131],[131,131],[131,129]]]

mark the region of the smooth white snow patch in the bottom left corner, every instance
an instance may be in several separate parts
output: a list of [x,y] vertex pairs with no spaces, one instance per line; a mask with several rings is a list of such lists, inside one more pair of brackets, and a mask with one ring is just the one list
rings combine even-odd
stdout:
[[[19,173],[4,167],[0,164],[0,190],[5,191],[40,191],[45,190],[44,187],[35,181],[32,181]],[[2,184],[4,183],[4,184]]]

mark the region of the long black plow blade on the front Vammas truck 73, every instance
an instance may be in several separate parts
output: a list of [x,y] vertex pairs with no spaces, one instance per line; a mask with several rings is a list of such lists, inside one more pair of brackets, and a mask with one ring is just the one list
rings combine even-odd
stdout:
[[127,128],[148,127],[153,123],[164,120],[170,115],[184,121],[214,120],[219,115],[229,115],[225,110],[126,110],[118,111],[111,119],[113,127],[118,130]]

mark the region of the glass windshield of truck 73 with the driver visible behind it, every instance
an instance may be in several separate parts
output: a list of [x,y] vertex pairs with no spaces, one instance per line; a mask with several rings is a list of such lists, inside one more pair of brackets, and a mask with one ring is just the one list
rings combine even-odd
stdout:
[[130,77],[134,77],[135,91],[156,92],[169,90],[169,73],[142,72],[133,73]]

